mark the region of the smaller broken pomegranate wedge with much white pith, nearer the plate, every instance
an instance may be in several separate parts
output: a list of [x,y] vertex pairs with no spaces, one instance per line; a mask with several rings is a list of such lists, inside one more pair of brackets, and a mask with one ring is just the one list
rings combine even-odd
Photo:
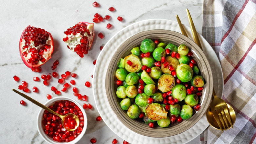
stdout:
[[94,39],[93,25],[93,23],[79,22],[64,31],[63,41],[71,51],[76,52],[80,57],[88,54],[88,50],[91,49]]

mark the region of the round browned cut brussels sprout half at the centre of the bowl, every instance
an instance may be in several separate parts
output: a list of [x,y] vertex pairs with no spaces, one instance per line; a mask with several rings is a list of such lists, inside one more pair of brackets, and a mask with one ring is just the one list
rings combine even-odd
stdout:
[[175,86],[175,79],[170,74],[163,74],[157,82],[157,88],[163,93],[170,91]]

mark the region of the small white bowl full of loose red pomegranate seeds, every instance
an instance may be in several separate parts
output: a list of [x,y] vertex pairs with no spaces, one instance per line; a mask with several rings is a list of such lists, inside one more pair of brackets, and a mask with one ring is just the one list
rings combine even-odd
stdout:
[[[83,107],[78,102],[68,97],[55,97],[44,105],[61,115],[73,113],[80,121],[75,131],[68,131],[62,126],[60,117],[41,109],[37,116],[37,129],[46,142],[74,144],[83,137],[87,128],[87,117]],[[76,122],[72,118],[67,121],[67,125],[70,127],[75,124]]]

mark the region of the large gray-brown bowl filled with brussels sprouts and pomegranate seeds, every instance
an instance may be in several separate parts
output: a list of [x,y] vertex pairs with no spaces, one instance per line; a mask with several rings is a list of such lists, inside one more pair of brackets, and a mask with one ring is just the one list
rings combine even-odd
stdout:
[[213,90],[203,51],[184,35],[161,29],[140,32],[122,43],[105,80],[117,118],[138,134],[158,138],[195,125]]

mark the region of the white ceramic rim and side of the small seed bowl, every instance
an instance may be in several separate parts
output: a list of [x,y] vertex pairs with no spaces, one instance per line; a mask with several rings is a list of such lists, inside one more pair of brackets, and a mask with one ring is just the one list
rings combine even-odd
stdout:
[[79,134],[74,140],[70,141],[70,142],[56,142],[54,141],[51,137],[49,137],[47,134],[44,133],[44,130],[43,130],[43,127],[42,127],[42,119],[43,119],[43,113],[44,113],[44,109],[40,109],[38,115],[37,115],[37,129],[38,129],[38,132],[39,134],[42,136],[42,138],[50,143],[50,144],[62,144],[62,143],[65,143],[65,144],[75,144],[77,143],[85,134],[85,131],[86,131],[86,128],[87,128],[87,117],[86,117],[86,113],[83,109],[83,107],[78,103],[76,102],[74,99],[72,98],[69,98],[69,97],[55,97],[53,99],[50,99],[48,102],[46,102],[44,105],[49,107],[50,105],[53,105],[55,101],[60,101],[60,100],[69,100],[69,101],[72,101],[74,102],[80,109],[81,111],[83,112],[83,116],[84,116],[84,127],[83,127],[83,131],[81,132],[81,134]]

